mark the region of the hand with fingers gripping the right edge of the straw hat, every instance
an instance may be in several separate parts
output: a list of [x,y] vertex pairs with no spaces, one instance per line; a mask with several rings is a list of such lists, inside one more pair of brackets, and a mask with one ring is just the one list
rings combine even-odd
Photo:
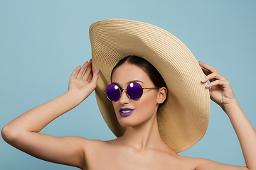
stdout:
[[225,105],[236,100],[228,79],[203,62],[199,62],[199,65],[206,74],[206,77],[201,81],[203,83],[210,81],[210,84],[206,85],[210,91],[210,98],[225,111]]

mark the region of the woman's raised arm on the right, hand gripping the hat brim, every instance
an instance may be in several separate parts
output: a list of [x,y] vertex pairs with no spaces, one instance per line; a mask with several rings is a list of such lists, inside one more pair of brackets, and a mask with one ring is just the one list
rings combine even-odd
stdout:
[[206,88],[210,91],[210,98],[215,101],[223,111],[227,113],[233,128],[238,135],[242,153],[245,158],[247,167],[231,166],[211,162],[201,159],[198,170],[201,169],[256,169],[256,132],[255,129],[247,120],[245,114],[242,112],[238,101],[233,94],[233,90],[228,82],[228,79],[219,74],[213,67],[199,62],[203,72],[206,74],[202,82],[210,81]]

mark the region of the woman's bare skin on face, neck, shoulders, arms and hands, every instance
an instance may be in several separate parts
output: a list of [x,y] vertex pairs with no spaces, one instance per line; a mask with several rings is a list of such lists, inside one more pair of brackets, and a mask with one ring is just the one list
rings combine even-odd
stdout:
[[[160,138],[156,122],[159,103],[166,98],[164,87],[144,90],[142,98],[137,101],[122,93],[119,100],[113,102],[119,123],[127,127],[124,135],[115,140],[53,137],[39,133],[52,120],[78,106],[95,89],[98,72],[92,73],[91,61],[74,70],[65,94],[12,120],[2,129],[2,137],[10,145],[33,157],[80,169],[256,170],[256,132],[242,113],[228,80],[213,67],[202,62],[199,65],[206,74],[202,82],[210,80],[206,87],[210,90],[210,98],[227,113],[238,135],[247,167],[183,157],[167,147]],[[125,89],[129,81],[137,81],[144,87],[154,86],[141,68],[125,63],[114,71],[112,82]],[[122,117],[119,108],[132,108],[134,112]]]

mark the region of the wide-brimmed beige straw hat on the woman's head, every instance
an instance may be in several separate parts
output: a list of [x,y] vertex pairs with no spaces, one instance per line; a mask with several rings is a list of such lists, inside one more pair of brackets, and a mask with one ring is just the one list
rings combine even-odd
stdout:
[[198,61],[178,38],[159,27],[139,21],[109,19],[90,26],[92,69],[100,69],[95,89],[100,112],[114,135],[125,128],[118,123],[105,90],[113,67],[129,55],[143,57],[156,67],[168,88],[167,101],[157,120],[161,139],[174,152],[196,144],[206,132],[210,97]]

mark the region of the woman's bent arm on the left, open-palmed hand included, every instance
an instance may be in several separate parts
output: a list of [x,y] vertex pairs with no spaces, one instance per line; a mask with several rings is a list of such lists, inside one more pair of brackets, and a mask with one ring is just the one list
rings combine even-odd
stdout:
[[97,73],[92,74],[91,62],[77,67],[71,74],[65,94],[12,120],[1,131],[3,139],[33,157],[81,169],[85,167],[83,145],[88,140],[82,137],[53,137],[38,132],[87,98],[96,87]]

